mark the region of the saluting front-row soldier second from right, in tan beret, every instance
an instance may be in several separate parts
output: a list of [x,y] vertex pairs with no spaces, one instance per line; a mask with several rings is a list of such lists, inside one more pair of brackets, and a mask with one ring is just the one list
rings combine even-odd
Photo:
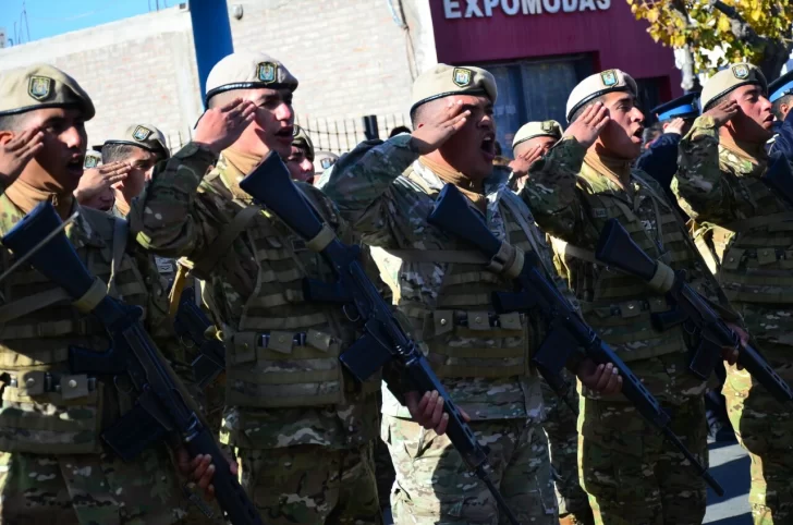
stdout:
[[[600,231],[617,218],[650,256],[685,269],[708,297],[721,298],[663,190],[631,167],[642,149],[644,115],[636,96],[636,83],[620,70],[581,82],[568,99],[572,124],[532,166],[521,195],[539,227],[556,237],[559,271],[581,301],[584,318],[674,414],[672,430],[707,462],[706,384],[688,371],[687,333],[681,327],[656,331],[650,315],[671,309],[664,296],[595,261]],[[596,523],[700,524],[705,483],[683,454],[624,398],[588,388],[581,395],[580,476]]]

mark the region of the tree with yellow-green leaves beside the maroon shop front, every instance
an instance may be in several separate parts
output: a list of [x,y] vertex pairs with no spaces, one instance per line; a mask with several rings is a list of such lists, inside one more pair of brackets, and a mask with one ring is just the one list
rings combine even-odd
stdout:
[[[793,49],[793,0],[627,0],[636,20],[664,46],[684,51],[683,87],[747,61],[777,78]],[[713,52],[721,49],[723,53]],[[688,62],[686,64],[686,62]],[[688,70],[688,71],[686,71]]]

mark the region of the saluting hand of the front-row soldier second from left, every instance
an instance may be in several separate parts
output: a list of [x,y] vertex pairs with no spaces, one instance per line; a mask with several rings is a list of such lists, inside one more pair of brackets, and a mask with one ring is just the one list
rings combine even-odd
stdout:
[[256,115],[256,105],[235,98],[225,106],[208,109],[195,127],[193,142],[216,155],[234,144]]

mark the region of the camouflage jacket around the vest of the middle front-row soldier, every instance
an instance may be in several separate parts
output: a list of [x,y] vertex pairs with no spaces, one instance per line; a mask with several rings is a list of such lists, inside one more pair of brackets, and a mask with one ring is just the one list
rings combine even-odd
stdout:
[[[449,246],[454,246],[454,240],[427,223],[427,217],[444,182],[418,160],[418,154],[412,148],[410,139],[410,135],[400,135],[385,143],[363,143],[326,171],[319,186],[351,221],[364,243],[373,247],[391,253],[450,249]],[[413,175],[405,173],[406,170],[418,175],[420,183],[414,182]],[[487,223],[499,239],[508,237],[504,203],[505,199],[517,202],[532,230],[529,234],[542,252],[540,257],[550,268],[550,253],[547,252],[545,236],[534,227],[530,211],[507,186],[505,174],[505,170],[500,170],[485,182]],[[518,247],[532,249],[529,245]],[[422,329],[420,318],[411,310],[424,310],[428,316],[440,312],[439,304],[448,294],[448,286],[451,288],[451,283],[444,283],[444,277],[456,271],[453,270],[454,264],[402,260],[396,255],[383,257],[378,262],[382,280],[393,291],[400,313],[414,319],[414,338],[428,353],[430,343],[422,340],[426,329]],[[492,279],[483,274],[481,269],[478,274],[480,281],[471,282],[472,290],[477,290],[481,283]],[[495,285],[510,290],[511,283],[500,281],[500,284]],[[489,301],[489,295],[487,297],[486,301]],[[426,327],[426,322],[424,325]],[[545,327],[538,316],[529,316],[529,330],[526,333],[528,335],[518,339],[517,343],[530,354],[545,335]],[[492,343],[473,334],[448,340],[449,345],[457,347],[489,346]],[[434,362],[434,366],[438,364]],[[455,403],[474,419],[536,418],[541,410],[539,383],[534,373],[509,378],[451,376],[443,377],[442,382]],[[393,416],[408,416],[406,408],[387,390],[383,392],[382,411]]]

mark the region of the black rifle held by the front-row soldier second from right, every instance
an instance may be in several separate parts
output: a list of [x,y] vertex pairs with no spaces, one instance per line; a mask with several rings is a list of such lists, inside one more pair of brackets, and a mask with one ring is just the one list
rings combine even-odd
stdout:
[[[773,371],[760,353],[749,344],[742,345],[737,334],[727,326],[721,316],[686,283],[685,271],[673,272],[668,266],[650,258],[617,219],[609,219],[606,222],[595,256],[605,265],[644,281],[650,282],[655,278],[657,282],[666,282],[660,291],[667,294],[675,307],[669,313],[654,314],[652,322],[659,331],[686,322],[698,332],[699,346],[694,351],[690,364],[694,375],[707,379],[712,374],[717,361],[722,358],[722,349],[736,349],[739,365],[752,374],[777,400],[781,402],[793,400],[791,388]],[[667,278],[660,279],[664,273]]]

